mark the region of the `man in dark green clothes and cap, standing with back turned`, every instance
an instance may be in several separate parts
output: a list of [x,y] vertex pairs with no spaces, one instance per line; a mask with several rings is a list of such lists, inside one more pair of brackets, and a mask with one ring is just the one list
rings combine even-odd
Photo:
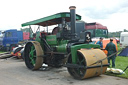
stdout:
[[[110,42],[107,44],[105,50],[108,51],[108,54],[107,56],[117,52],[116,50],[116,46],[115,44],[113,43],[113,39],[110,38]],[[115,59],[116,59],[116,54],[111,56],[111,57],[108,57],[108,63],[110,64],[110,60],[112,59],[112,67],[115,68]]]

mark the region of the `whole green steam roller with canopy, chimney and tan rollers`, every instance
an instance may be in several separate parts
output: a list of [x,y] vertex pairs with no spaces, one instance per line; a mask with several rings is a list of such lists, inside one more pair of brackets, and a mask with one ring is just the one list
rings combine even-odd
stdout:
[[71,6],[70,12],[57,13],[22,24],[39,25],[38,27],[58,25],[51,33],[48,32],[48,27],[47,32],[37,31],[35,40],[25,45],[24,58],[29,69],[40,69],[42,64],[56,68],[65,66],[75,79],[105,73],[108,66],[107,56],[99,45],[90,43],[91,32],[85,30],[85,23],[76,23],[81,20],[81,16],[75,14],[75,8]]

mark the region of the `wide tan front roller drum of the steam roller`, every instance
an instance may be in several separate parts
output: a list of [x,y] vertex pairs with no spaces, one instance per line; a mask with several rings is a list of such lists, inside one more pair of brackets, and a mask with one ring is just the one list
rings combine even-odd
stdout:
[[81,49],[77,51],[77,62],[72,62],[72,56],[68,57],[67,69],[75,79],[85,79],[99,76],[106,72],[108,61],[103,60],[101,63],[93,64],[107,56],[100,49]]

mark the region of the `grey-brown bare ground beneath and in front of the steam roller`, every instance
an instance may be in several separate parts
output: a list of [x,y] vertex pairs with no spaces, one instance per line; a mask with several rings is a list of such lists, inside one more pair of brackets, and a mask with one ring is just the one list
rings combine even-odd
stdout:
[[73,79],[67,69],[31,71],[22,59],[0,59],[0,85],[128,85],[128,79],[101,75],[85,80]]

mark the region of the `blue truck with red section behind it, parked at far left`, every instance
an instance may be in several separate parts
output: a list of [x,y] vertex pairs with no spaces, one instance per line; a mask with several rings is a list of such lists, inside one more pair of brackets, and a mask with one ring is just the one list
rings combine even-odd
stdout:
[[19,42],[29,39],[29,32],[10,29],[1,32],[0,34],[0,50],[10,51],[16,47]]

